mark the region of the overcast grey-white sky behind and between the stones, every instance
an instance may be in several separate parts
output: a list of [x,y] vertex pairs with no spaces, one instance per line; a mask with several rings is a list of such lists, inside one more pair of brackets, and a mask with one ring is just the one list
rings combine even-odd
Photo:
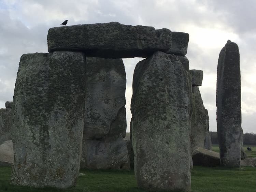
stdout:
[[[47,53],[47,32],[67,25],[107,23],[153,26],[189,33],[190,69],[203,70],[200,87],[216,131],[216,73],[227,40],[240,50],[242,128],[254,132],[256,117],[255,0],[0,0],[0,108],[12,101],[22,54]],[[127,124],[130,124],[132,76],[142,58],[123,59],[127,76]],[[127,129],[129,132],[129,128]]]

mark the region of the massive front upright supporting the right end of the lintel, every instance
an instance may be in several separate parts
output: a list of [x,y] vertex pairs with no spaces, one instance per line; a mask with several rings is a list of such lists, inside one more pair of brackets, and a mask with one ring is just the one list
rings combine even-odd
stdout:
[[139,188],[190,191],[188,63],[157,51],[134,70],[132,145]]

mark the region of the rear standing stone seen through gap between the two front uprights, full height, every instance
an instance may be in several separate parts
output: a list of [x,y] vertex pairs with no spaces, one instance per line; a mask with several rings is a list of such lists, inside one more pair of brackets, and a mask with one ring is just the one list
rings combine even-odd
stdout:
[[81,168],[130,169],[122,59],[86,57]]

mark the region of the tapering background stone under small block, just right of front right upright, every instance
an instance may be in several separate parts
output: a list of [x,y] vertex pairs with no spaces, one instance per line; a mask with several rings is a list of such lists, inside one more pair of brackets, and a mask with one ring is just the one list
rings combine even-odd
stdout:
[[[190,70],[191,71],[191,70]],[[205,110],[198,86],[192,86],[192,118],[191,118],[191,149],[204,148],[206,132],[209,132],[209,116]]]

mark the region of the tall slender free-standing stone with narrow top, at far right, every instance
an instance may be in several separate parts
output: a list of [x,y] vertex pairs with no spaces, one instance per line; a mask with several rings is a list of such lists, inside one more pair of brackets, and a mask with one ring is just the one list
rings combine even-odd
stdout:
[[239,167],[241,161],[241,76],[236,43],[228,40],[217,67],[217,131],[221,165]]

